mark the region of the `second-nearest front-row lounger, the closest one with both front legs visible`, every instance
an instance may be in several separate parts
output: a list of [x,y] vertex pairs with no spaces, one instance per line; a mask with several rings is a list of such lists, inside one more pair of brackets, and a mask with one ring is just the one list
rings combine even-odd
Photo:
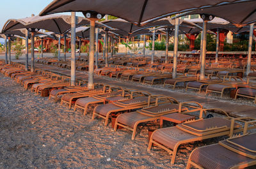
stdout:
[[[203,111],[200,113],[200,117],[202,117],[202,112]],[[231,117],[212,117],[210,119],[201,118],[196,121],[184,122],[170,128],[157,129],[152,133],[148,144],[148,151],[150,151],[152,143],[154,143],[158,147],[161,147],[172,154],[171,163],[173,164],[177,154],[177,149],[182,143],[190,143],[243,131],[243,127],[235,122],[235,120],[239,122],[248,120],[255,121],[255,119],[250,117],[240,117],[236,119],[232,119]],[[250,128],[256,128],[256,125],[250,126]]]

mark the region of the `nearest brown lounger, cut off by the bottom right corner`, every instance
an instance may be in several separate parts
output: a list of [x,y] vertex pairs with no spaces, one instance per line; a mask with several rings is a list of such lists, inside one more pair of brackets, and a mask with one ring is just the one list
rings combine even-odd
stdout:
[[232,136],[219,143],[199,147],[189,156],[186,169],[234,169],[256,165],[256,133]]

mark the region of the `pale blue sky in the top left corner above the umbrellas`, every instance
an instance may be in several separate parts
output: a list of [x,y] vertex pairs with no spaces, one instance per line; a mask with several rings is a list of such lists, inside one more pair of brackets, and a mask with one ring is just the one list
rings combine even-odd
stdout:
[[[0,30],[2,30],[8,19],[31,17],[31,14],[38,15],[40,11],[44,10],[52,1],[53,0],[7,0],[1,2]],[[70,15],[70,13],[63,14]],[[83,14],[77,13],[77,16],[83,16]],[[0,38],[0,43],[2,42],[3,39]]]

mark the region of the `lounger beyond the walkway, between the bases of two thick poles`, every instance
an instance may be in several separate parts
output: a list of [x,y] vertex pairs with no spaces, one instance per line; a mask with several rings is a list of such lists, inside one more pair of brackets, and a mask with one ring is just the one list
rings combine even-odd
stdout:
[[176,85],[179,82],[184,82],[184,87],[186,87],[186,82],[194,82],[198,80],[198,76],[197,77],[177,77],[177,78],[168,78],[167,80],[164,81],[164,87],[166,85],[170,85],[173,87],[173,89],[175,89]]

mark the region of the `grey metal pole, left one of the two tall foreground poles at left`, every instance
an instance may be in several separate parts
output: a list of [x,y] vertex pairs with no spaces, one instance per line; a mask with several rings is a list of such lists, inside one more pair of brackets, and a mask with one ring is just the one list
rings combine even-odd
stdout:
[[71,69],[70,85],[76,85],[76,12],[71,13]]

